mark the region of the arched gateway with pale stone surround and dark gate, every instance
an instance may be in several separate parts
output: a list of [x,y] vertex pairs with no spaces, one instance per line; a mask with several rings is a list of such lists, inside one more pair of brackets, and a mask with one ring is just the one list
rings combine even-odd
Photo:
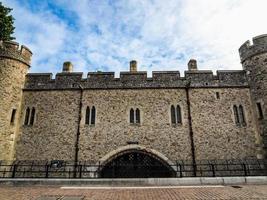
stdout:
[[122,147],[105,156],[99,175],[102,178],[174,177],[168,159],[155,150],[138,145]]

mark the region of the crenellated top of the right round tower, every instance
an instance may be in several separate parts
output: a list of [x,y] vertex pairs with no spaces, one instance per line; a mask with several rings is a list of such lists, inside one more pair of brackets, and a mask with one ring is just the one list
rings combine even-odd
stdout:
[[267,34],[254,37],[252,42],[253,44],[248,40],[239,48],[241,63],[252,56],[267,52]]

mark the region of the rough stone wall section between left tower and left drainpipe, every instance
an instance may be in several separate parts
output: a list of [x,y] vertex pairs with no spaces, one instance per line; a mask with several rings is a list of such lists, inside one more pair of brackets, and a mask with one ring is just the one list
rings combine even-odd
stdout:
[[[24,92],[17,160],[73,160],[79,91]],[[35,107],[34,124],[23,125],[25,110]]]

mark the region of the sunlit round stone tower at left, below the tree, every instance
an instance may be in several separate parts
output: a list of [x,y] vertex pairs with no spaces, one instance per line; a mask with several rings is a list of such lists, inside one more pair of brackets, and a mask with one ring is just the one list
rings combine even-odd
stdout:
[[25,75],[32,52],[16,42],[0,41],[0,160],[12,160]]

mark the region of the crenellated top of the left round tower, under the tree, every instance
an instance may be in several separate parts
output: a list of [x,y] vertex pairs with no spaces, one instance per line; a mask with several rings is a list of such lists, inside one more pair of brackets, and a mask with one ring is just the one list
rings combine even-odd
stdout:
[[0,57],[19,60],[30,66],[32,52],[24,45],[13,41],[0,41]]

